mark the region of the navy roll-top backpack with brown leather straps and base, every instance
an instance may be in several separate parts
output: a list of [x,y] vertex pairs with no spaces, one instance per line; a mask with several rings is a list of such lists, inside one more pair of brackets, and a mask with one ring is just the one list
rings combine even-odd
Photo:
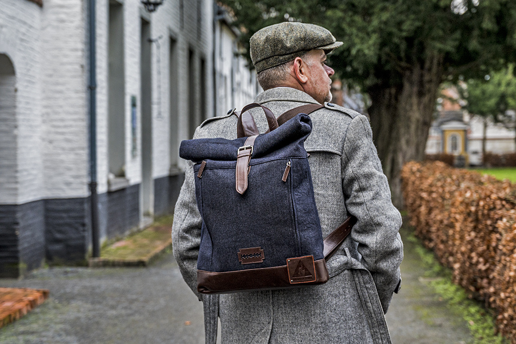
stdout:
[[[269,130],[265,134],[258,135],[247,112],[253,107],[266,113]],[[323,242],[304,149],[312,122],[307,114],[298,113],[320,107],[299,107],[277,120],[268,108],[249,104],[238,120],[239,138],[181,143],[180,156],[196,162],[196,199],[202,217],[199,292],[328,281],[325,257],[349,234],[354,219],[348,218]]]

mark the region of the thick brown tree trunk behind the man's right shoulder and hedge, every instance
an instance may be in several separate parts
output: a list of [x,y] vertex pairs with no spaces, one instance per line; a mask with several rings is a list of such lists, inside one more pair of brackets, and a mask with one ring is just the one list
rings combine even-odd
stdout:
[[402,73],[398,86],[377,85],[367,91],[373,140],[389,179],[392,200],[403,207],[401,168],[410,160],[423,160],[442,77],[442,56],[430,57],[423,66]]

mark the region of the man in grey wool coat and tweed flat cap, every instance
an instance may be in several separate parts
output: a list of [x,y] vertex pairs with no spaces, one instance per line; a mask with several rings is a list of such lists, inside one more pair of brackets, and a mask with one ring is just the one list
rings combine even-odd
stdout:
[[[310,153],[315,201],[323,236],[349,215],[358,219],[351,234],[328,260],[326,284],[272,291],[201,296],[196,261],[201,217],[195,201],[192,163],[175,208],[174,255],[190,288],[204,299],[206,341],[212,342],[220,317],[222,343],[390,343],[383,314],[400,285],[401,217],[365,116],[331,103],[326,54],[342,45],[330,31],[303,23],[263,28],[250,40],[257,96],[276,116],[304,104],[324,104],[310,114]],[[261,109],[252,109],[261,133]],[[206,120],[195,138],[236,138],[237,116]],[[215,331],[214,331],[215,327]]]

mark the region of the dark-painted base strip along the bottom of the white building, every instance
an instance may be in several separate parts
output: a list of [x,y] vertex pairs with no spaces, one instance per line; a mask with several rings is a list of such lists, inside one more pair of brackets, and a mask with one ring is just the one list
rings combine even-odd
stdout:
[[[172,214],[184,174],[154,181],[155,216]],[[140,185],[99,195],[101,240],[122,237],[140,224]],[[85,263],[91,247],[89,198],[0,205],[0,277],[51,264]]]

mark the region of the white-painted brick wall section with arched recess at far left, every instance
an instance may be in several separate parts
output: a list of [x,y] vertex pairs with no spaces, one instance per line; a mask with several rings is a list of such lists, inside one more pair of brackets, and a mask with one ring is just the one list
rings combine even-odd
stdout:
[[10,123],[10,128],[2,129],[7,129],[9,135],[0,137],[1,155],[14,162],[16,174],[9,181],[1,180],[0,204],[19,204],[45,194],[45,176],[41,173],[44,151],[41,141],[45,132],[41,118],[42,9],[28,1],[9,0],[0,0],[0,8],[0,54],[9,57],[15,73],[15,85],[7,82],[3,87],[9,91],[2,93],[15,93],[16,98],[15,117],[6,111],[0,115],[2,122]]

